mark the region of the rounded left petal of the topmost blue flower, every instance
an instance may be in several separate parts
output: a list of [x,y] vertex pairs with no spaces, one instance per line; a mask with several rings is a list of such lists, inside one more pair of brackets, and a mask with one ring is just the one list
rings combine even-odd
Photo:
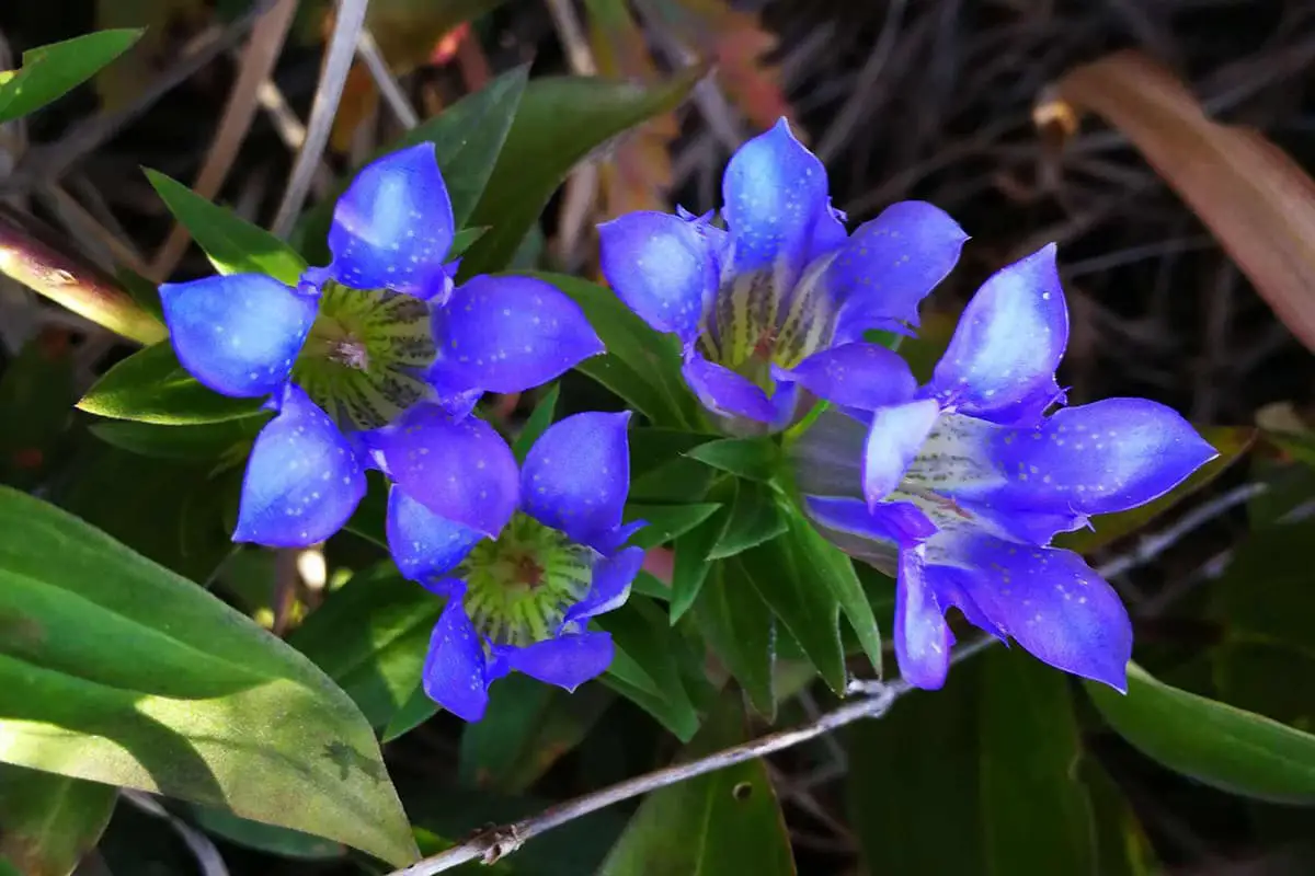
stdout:
[[608,285],[644,322],[682,341],[698,334],[717,292],[717,260],[697,222],[639,211],[598,226]]

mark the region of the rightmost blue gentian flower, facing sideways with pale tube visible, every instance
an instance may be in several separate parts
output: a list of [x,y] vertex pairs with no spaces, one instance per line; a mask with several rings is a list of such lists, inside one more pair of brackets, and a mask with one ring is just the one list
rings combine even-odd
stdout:
[[1045,411],[1068,341],[1055,247],[1002,269],[964,310],[930,383],[890,351],[832,351],[809,387],[836,403],[793,448],[814,523],[897,575],[896,655],[938,688],[955,605],[1041,661],[1127,687],[1132,626],[1084,559],[1048,546],[1091,515],[1156,499],[1216,456],[1178,414],[1139,398]]

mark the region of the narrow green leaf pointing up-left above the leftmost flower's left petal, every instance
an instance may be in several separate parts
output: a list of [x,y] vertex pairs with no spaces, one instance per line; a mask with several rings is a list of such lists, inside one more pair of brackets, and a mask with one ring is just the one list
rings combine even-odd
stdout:
[[146,169],[155,193],[187,229],[220,273],[264,273],[296,286],[306,269],[296,250],[231,210],[203,198],[178,180]]

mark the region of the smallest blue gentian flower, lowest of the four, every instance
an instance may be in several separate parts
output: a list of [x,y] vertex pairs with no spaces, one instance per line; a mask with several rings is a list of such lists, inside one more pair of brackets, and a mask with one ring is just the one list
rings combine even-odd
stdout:
[[629,420],[629,412],[568,416],[539,437],[519,470],[479,419],[421,408],[398,424],[394,458],[414,453],[413,468],[421,468],[446,456],[442,470],[460,460],[477,475],[452,479],[454,519],[412,498],[414,471],[392,471],[393,559],[404,575],[447,598],[423,687],[448,712],[479,721],[489,684],[513,671],[571,691],[611,663],[611,637],[585,626],[626,602],[644,559],[640,548],[625,546],[643,524],[621,523]]

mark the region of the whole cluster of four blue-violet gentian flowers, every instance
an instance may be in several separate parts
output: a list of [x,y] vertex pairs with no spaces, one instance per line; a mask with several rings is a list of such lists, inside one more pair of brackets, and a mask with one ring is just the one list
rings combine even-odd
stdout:
[[[711,215],[633,213],[601,227],[602,271],[731,432],[794,440],[807,514],[897,571],[896,649],[939,687],[953,605],[1069,672],[1124,686],[1127,613],[1059,532],[1170,490],[1214,450],[1143,399],[1061,408],[1068,313],[1047,247],[992,277],[926,386],[871,330],[909,332],[967,239],[936,208],[897,204],[847,234],[826,172],[782,121],[746,143]],[[237,541],[305,546],[351,516],[366,471],[389,482],[397,567],[446,598],[426,693],[479,720],[512,671],[567,690],[613,657],[590,619],[643,562],[623,524],[629,414],[548,427],[523,465],[472,415],[602,352],[580,309],[530,277],[454,284],[452,210],[431,144],[367,167],[338,201],[325,268],[289,286],[230,274],[160,289],[179,361],[276,412],[255,440]]]

